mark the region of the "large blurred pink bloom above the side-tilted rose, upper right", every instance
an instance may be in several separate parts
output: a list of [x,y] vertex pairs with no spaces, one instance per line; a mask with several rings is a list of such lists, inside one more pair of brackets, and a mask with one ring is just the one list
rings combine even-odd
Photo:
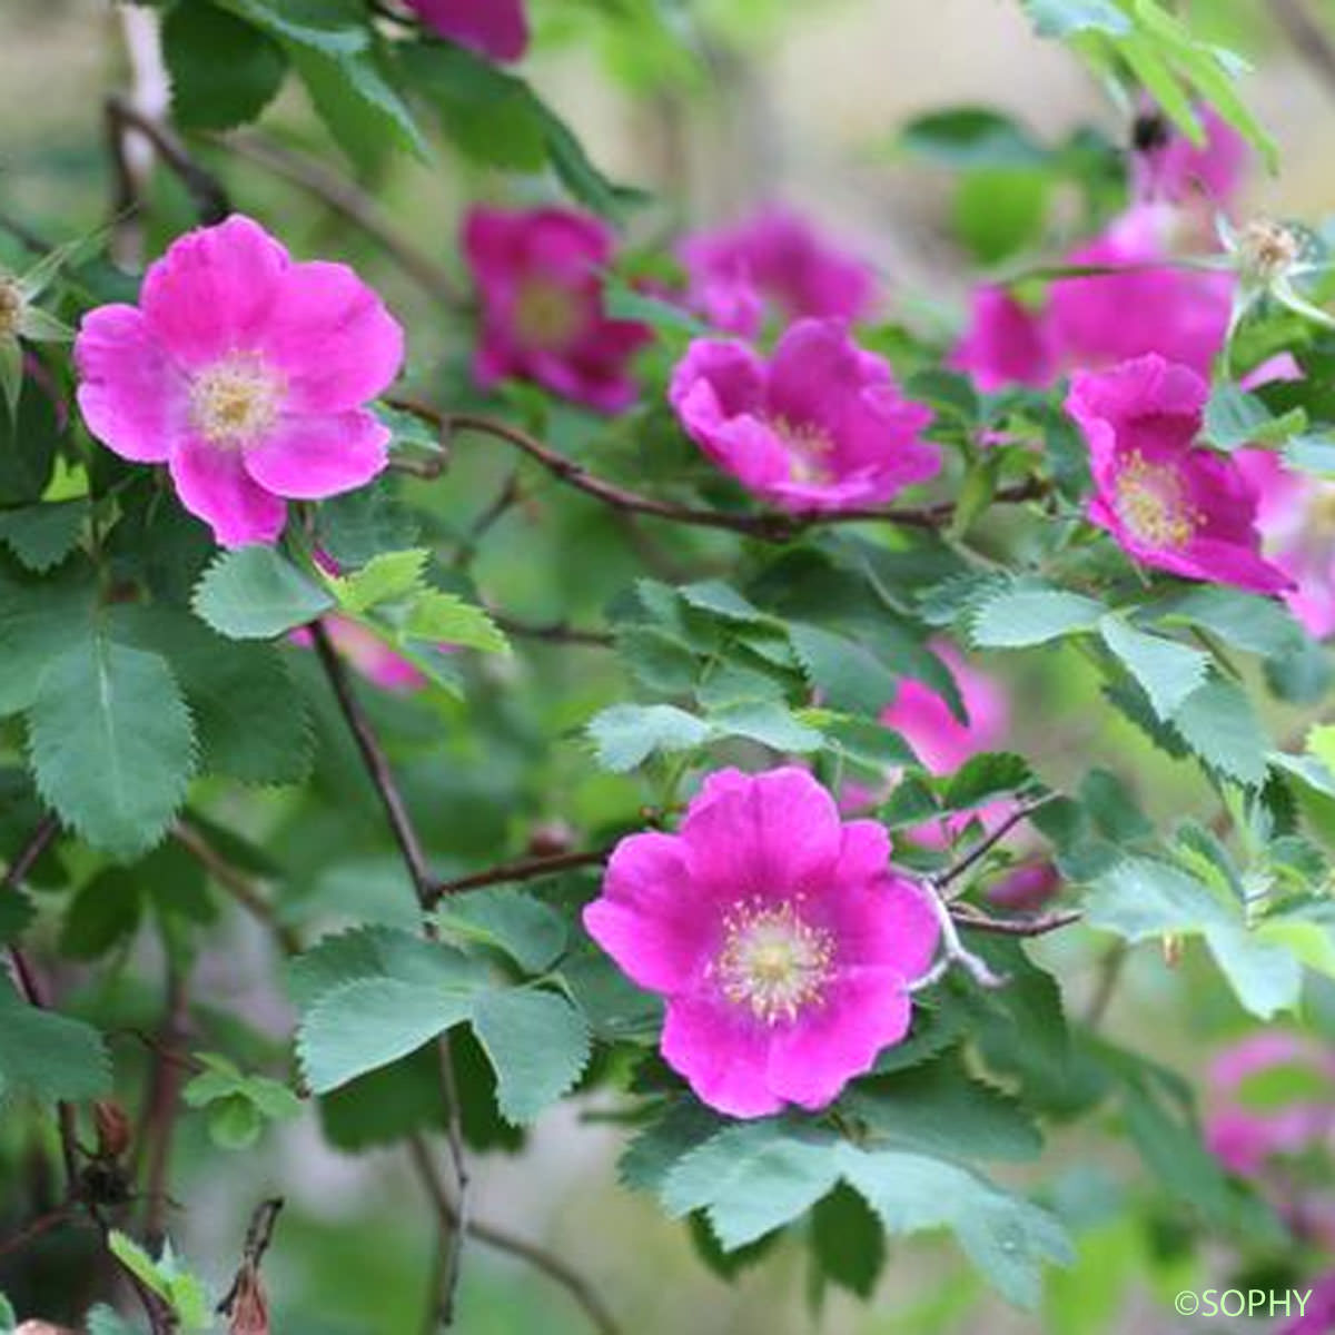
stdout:
[[1039,308],[1003,290],[979,288],[952,364],[984,392],[1009,384],[1045,388],[1064,371],[1145,352],[1208,375],[1228,332],[1234,279],[1168,264],[1165,222],[1152,207],[1124,214],[1064,263],[1127,272],[1056,279]]

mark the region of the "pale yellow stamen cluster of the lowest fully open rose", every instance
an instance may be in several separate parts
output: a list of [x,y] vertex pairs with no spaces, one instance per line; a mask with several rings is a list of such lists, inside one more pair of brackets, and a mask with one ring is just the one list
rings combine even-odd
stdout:
[[834,941],[804,922],[792,902],[774,906],[748,900],[725,918],[724,945],[709,968],[724,996],[749,1007],[762,1024],[796,1020],[820,1005]]

